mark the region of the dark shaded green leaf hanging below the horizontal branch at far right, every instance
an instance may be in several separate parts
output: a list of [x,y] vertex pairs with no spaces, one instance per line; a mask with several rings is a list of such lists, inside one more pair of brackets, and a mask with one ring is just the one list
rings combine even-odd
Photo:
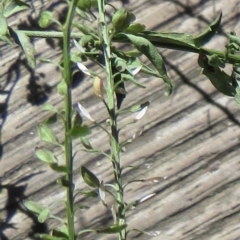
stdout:
[[219,67],[209,65],[208,58],[205,54],[199,54],[198,64],[203,68],[202,74],[211,81],[219,92],[231,97],[235,95],[236,92],[232,85],[232,78]]

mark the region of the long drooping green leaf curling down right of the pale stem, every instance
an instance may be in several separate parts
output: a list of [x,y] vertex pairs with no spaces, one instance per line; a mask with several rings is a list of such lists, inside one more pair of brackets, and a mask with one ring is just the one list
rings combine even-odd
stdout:
[[143,37],[134,36],[132,34],[125,34],[132,44],[138,49],[139,52],[144,54],[154,65],[160,74],[160,77],[164,80],[167,87],[167,94],[172,91],[172,83],[167,75],[167,70],[162,56],[154,45]]

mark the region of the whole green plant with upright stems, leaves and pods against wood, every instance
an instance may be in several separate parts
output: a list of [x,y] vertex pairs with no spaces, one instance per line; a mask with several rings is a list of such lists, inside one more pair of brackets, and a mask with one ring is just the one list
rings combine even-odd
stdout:
[[[185,52],[198,54],[197,64],[202,68],[204,74],[215,86],[215,88],[230,97],[234,97],[240,105],[240,38],[234,32],[228,34],[229,43],[224,51],[216,49],[207,49],[204,44],[211,40],[217,33],[221,23],[222,15],[208,26],[206,30],[197,36],[188,33],[176,32],[157,32],[147,30],[144,24],[135,22],[135,16],[128,10],[121,8],[116,9],[110,3],[104,0],[71,0],[66,1],[68,11],[64,24],[61,24],[53,17],[50,11],[43,11],[39,16],[39,26],[42,31],[15,30],[8,26],[7,19],[19,11],[29,8],[29,5],[20,0],[2,0],[0,2],[0,39],[10,45],[18,44],[27,58],[30,67],[35,67],[35,50],[31,44],[30,38],[62,38],[62,60],[57,64],[62,73],[62,80],[57,86],[58,93],[62,96],[64,102],[63,109],[56,109],[54,106],[47,104],[43,108],[51,112],[52,117],[38,126],[38,134],[42,141],[60,148],[65,159],[64,165],[58,163],[58,159],[48,148],[36,148],[38,159],[46,163],[53,171],[59,172],[61,177],[57,179],[59,186],[62,186],[66,192],[64,199],[65,218],[54,216],[51,213],[52,206],[42,206],[31,200],[25,200],[25,207],[38,216],[38,221],[43,223],[49,218],[58,221],[59,226],[52,229],[49,234],[39,234],[41,239],[81,239],[82,234],[93,232],[96,234],[117,234],[119,240],[125,240],[130,231],[139,231],[144,234],[156,236],[156,232],[144,232],[141,229],[128,229],[128,219],[126,212],[132,210],[136,205],[146,201],[153,195],[143,196],[134,202],[127,203],[124,196],[124,189],[128,184],[134,181],[159,182],[164,180],[159,176],[153,176],[151,179],[138,179],[125,181],[122,178],[122,171],[126,167],[121,163],[121,152],[125,146],[131,143],[141,134],[137,131],[130,139],[120,142],[119,134],[121,128],[118,127],[118,116],[122,113],[132,114],[133,120],[128,124],[134,124],[139,121],[147,112],[149,102],[136,103],[129,109],[121,109],[122,102],[127,98],[125,83],[128,81],[136,87],[144,88],[136,78],[138,73],[145,73],[154,76],[156,79],[162,79],[166,85],[166,94],[169,95],[172,90],[171,79],[169,78],[164,60],[159,48],[175,49]],[[111,18],[107,18],[106,5],[112,8]],[[108,7],[109,9],[109,7]],[[86,23],[82,24],[82,20]],[[55,24],[58,31],[45,30]],[[55,28],[56,29],[56,28]],[[115,42],[127,43],[130,46],[129,51],[117,49]],[[71,51],[75,45],[77,51]],[[153,67],[144,64],[140,55],[145,55],[152,63]],[[39,59],[43,62],[51,62],[49,59]],[[94,62],[105,73],[103,80],[94,72],[86,67],[85,61]],[[223,71],[225,64],[232,65],[232,74],[228,75]],[[104,104],[108,112],[106,125],[101,125],[93,119],[88,110],[80,103],[72,103],[72,77],[75,72],[74,66],[78,71],[82,71],[92,79],[94,93],[99,101]],[[57,118],[53,117],[57,116]],[[82,118],[87,119],[91,124],[95,124],[104,131],[109,140],[109,151],[95,149],[88,137],[91,134],[90,127],[83,125]],[[57,119],[64,126],[64,141],[60,142],[53,130],[50,122]],[[100,181],[90,169],[81,166],[80,173],[89,189],[80,190],[74,187],[73,181],[73,163],[77,150],[72,147],[73,139],[79,139],[84,151],[97,154],[103,154],[112,166],[114,183],[107,184]],[[111,190],[109,190],[111,189]],[[91,197],[100,198],[103,205],[112,213],[112,224],[101,229],[76,229],[75,218],[76,196],[82,194]],[[115,202],[116,208],[108,206],[106,195],[111,195]],[[53,203],[54,205],[55,203]],[[59,203],[57,203],[59,204]],[[84,203],[82,204],[84,211]]]

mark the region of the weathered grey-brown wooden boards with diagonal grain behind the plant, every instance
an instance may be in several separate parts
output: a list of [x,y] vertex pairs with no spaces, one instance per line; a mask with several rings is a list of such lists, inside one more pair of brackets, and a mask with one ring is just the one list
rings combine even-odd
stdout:
[[[219,36],[209,44],[212,47],[224,48],[224,31],[234,29],[240,33],[239,0],[129,2],[126,6],[136,14],[139,21],[146,23],[148,28],[161,31],[197,34],[222,11],[222,29]],[[40,3],[34,2],[41,6]],[[46,6],[61,8],[56,4]],[[13,27],[27,19],[26,14],[21,16],[21,19],[12,19]],[[34,44],[37,57],[59,59],[59,48],[55,47],[53,51],[45,40],[36,40]],[[240,239],[238,107],[233,99],[217,93],[210,82],[200,75],[194,54],[159,50],[169,63],[167,67],[175,83],[174,92],[170,97],[164,96],[163,83],[153,78],[141,80],[147,86],[143,90],[128,86],[129,95],[124,107],[143,100],[150,100],[151,105],[143,120],[122,132],[122,139],[126,139],[144,126],[143,135],[122,154],[122,162],[124,165],[145,166],[141,170],[126,169],[125,181],[153,176],[167,179],[155,185],[132,184],[127,188],[126,201],[156,193],[155,197],[129,212],[129,227],[161,231],[155,238],[139,236],[139,239]],[[45,101],[57,107],[63,105],[62,98],[55,91],[60,75],[52,65],[42,64],[38,64],[34,72],[29,72],[24,57],[7,45],[1,45],[0,73],[0,238],[37,239],[34,232],[44,232],[47,225],[51,227],[56,222],[37,224],[36,218],[24,210],[21,200],[30,198],[49,205],[64,199],[64,191],[55,184],[58,175],[34,156],[34,149],[43,145],[36,134],[36,126],[48,115],[40,109],[40,103]],[[89,79],[84,79],[75,87],[74,102],[81,101],[92,116],[104,124],[105,110],[93,96],[91,84]],[[45,93],[46,98],[41,93]],[[121,118],[120,125],[130,118]],[[62,139],[62,128],[56,126],[55,131]],[[95,147],[108,149],[106,135],[96,127],[92,128],[91,142]],[[76,150],[80,148],[77,141],[74,146]],[[55,154],[62,159],[58,149],[55,149]],[[112,182],[111,164],[107,159],[79,152],[74,163],[76,187],[86,187],[79,177],[82,164],[104,182]],[[146,164],[151,167],[146,168]],[[88,210],[77,214],[76,225],[79,229],[112,223],[110,213],[99,200],[88,204],[91,206]],[[53,211],[59,216],[64,214],[61,204],[54,207]],[[131,235],[130,239],[134,236],[137,235]],[[84,239],[116,238],[86,235]]]

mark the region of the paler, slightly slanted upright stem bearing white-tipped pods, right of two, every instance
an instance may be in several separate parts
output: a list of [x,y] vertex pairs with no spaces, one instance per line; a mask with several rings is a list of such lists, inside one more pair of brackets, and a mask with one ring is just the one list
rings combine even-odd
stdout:
[[[105,20],[104,0],[98,0],[99,19],[101,25],[101,32],[103,37],[103,53],[105,59],[105,67],[107,74],[107,107],[109,110],[110,127],[111,127],[111,156],[114,169],[115,187],[117,192],[117,204],[118,204],[118,224],[123,225],[126,223],[125,211],[124,211],[124,194],[122,187],[121,176],[121,163],[119,154],[119,139],[118,139],[118,126],[117,126],[117,114],[115,107],[115,93],[114,93],[114,79],[111,66],[111,48],[110,48],[110,36]],[[123,229],[119,233],[119,240],[126,239],[126,229]]]

